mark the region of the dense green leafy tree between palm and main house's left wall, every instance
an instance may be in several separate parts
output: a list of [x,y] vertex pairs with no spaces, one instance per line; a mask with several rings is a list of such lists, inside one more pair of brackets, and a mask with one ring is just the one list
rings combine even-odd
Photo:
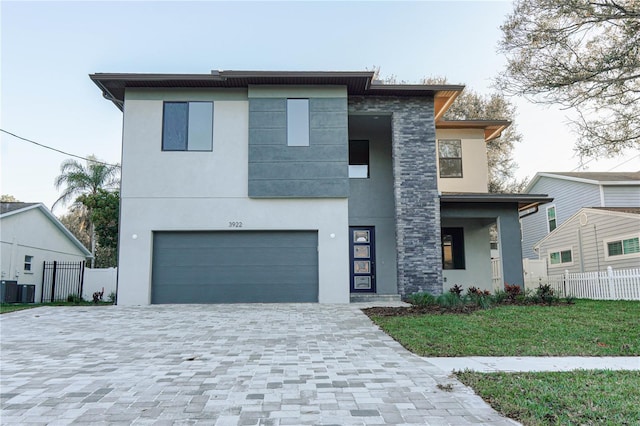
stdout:
[[97,267],[112,267],[117,264],[118,218],[120,214],[120,193],[99,188],[95,194],[78,197],[89,213],[96,234]]

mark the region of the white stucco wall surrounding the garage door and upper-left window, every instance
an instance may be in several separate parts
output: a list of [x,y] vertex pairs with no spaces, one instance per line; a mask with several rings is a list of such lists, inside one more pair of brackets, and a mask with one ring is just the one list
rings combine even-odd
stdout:
[[[212,152],[162,151],[163,100],[214,102]],[[119,304],[150,303],[153,231],[180,230],[316,230],[318,300],[349,302],[347,199],[249,199],[248,120],[246,90],[127,91]]]

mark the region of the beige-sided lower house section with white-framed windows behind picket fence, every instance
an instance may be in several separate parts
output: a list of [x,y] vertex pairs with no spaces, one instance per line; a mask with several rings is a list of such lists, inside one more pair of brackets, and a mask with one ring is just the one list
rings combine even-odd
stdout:
[[640,207],[582,208],[540,240],[549,275],[640,267]]

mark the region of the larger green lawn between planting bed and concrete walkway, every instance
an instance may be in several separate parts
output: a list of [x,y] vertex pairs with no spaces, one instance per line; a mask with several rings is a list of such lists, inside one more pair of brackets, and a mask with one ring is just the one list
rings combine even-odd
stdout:
[[637,356],[640,302],[498,306],[471,314],[372,316],[420,356]]

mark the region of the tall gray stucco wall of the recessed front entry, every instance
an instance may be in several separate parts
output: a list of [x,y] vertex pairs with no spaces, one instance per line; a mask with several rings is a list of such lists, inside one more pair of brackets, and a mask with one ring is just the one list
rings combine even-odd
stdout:
[[376,293],[398,294],[391,117],[349,117],[349,139],[369,141],[369,179],[349,179],[349,226],[374,226]]

